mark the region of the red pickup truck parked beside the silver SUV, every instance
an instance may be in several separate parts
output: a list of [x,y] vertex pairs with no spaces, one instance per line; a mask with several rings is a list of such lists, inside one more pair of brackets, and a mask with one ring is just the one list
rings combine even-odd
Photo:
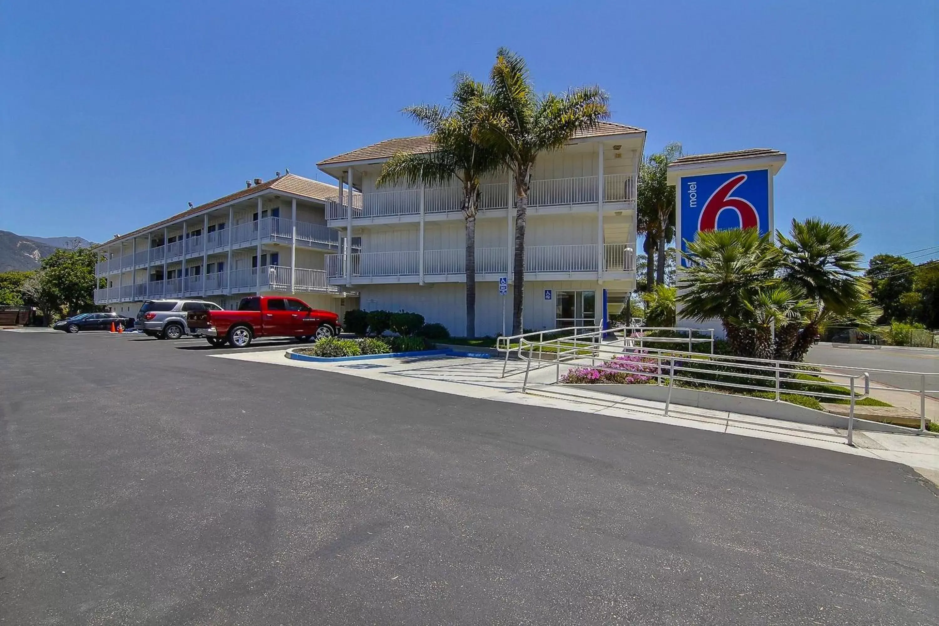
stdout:
[[319,311],[297,298],[253,296],[242,298],[238,311],[191,311],[190,332],[215,346],[251,345],[255,337],[295,337],[301,342],[337,334],[339,315]]

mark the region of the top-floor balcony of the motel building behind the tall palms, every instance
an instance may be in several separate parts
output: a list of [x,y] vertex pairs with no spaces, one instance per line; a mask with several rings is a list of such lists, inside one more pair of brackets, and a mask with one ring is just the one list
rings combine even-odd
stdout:
[[[612,174],[603,178],[605,211],[635,209],[635,176]],[[599,182],[598,176],[532,180],[529,211],[531,214],[547,214],[596,210]],[[326,216],[332,227],[346,225],[347,204],[340,204],[338,197],[327,200]],[[463,191],[459,187],[365,192],[353,197],[352,221],[354,225],[419,221],[422,213],[427,220],[462,219],[462,205]],[[511,183],[482,186],[480,217],[504,216],[506,210],[514,205],[515,191]]]

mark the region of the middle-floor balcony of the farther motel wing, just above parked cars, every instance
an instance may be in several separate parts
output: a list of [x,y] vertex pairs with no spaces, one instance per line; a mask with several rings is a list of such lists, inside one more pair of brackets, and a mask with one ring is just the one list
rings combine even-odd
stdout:
[[186,276],[165,281],[138,282],[95,290],[95,304],[132,302],[154,298],[203,298],[226,294],[254,294],[256,291],[316,292],[338,294],[322,269],[261,267]]

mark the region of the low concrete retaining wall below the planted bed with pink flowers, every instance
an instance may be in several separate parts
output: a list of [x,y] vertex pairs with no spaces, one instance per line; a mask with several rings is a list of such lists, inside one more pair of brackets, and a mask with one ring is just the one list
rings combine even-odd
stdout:
[[[652,400],[665,402],[669,397],[668,387],[657,385],[571,385],[577,389],[599,391],[612,395],[621,395],[639,400]],[[803,424],[828,426],[830,428],[848,428],[848,419],[838,415],[817,411],[806,406],[793,405],[788,402],[776,402],[762,398],[733,395],[731,393],[717,393],[716,391],[700,391],[698,389],[682,389],[676,387],[671,390],[671,404],[682,406],[697,406],[717,411],[730,411],[744,415],[755,415],[772,420],[796,421]],[[877,431],[880,433],[905,433],[913,431],[909,428],[885,424],[879,421],[854,419],[854,428],[864,431]]]

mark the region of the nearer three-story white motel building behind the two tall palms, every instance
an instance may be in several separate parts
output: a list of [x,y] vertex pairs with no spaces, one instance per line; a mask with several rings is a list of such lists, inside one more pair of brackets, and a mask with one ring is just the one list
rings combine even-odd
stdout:
[[[524,328],[593,326],[619,311],[636,286],[636,189],[645,130],[603,122],[561,150],[539,155],[531,175],[525,242]],[[462,191],[383,187],[382,164],[398,152],[426,152],[429,137],[382,141],[322,160],[338,193],[327,224],[340,249],[326,254],[336,289],[359,293],[362,309],[422,313],[454,335],[466,328]],[[352,191],[351,201],[349,191]],[[511,326],[515,187],[507,172],[482,187],[476,221],[476,333]],[[506,301],[507,300],[507,301]]]

